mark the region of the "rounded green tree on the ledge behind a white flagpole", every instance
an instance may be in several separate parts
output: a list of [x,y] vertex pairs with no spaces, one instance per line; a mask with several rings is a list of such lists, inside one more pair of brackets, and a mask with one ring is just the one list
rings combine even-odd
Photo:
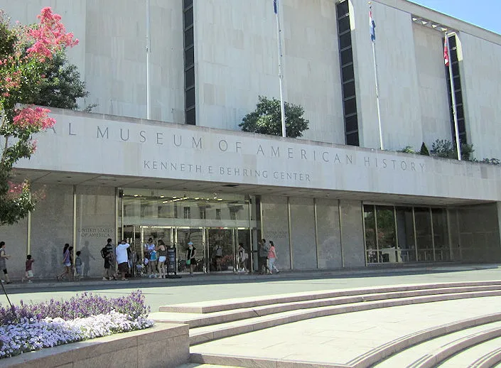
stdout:
[[[297,138],[303,136],[303,131],[308,129],[309,121],[303,118],[304,109],[295,104],[285,102],[286,136]],[[242,131],[252,131],[270,136],[282,135],[280,101],[259,96],[259,102],[253,112],[245,115],[239,124]]]

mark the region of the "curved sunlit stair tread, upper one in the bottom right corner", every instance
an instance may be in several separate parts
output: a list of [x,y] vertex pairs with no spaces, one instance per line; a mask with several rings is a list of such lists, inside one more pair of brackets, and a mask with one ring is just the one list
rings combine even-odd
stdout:
[[[475,332],[482,332],[489,330],[490,328],[496,328],[496,327],[501,328],[501,321],[494,323],[487,323],[485,325],[475,326],[473,328],[467,328],[465,330],[452,332],[448,335],[436,337],[431,340],[421,342],[418,345],[409,347],[406,350],[402,350],[401,352],[397,352],[397,354],[392,355],[383,362],[375,364],[374,367],[377,368],[406,367],[407,365],[412,364],[413,362],[423,357],[424,355],[431,354],[433,351],[440,349],[441,347],[443,347],[443,345],[454,342],[455,340],[461,339],[462,337],[466,337]],[[473,362],[473,360],[470,360],[468,364]],[[463,363],[466,362],[463,361]],[[468,367],[468,364],[466,364],[465,367]]]

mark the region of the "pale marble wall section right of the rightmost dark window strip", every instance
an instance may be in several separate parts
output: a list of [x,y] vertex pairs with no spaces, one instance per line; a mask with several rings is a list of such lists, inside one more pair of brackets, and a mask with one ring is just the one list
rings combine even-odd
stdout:
[[473,156],[501,159],[501,44],[459,34],[466,134]]

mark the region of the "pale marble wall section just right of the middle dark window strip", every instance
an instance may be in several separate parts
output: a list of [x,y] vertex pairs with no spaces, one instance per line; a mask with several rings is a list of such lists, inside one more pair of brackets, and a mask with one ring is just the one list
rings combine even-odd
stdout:
[[[360,146],[379,148],[369,9],[365,0],[352,0],[352,4],[355,77],[360,91],[360,96],[357,94]],[[383,146],[389,150],[421,146],[421,102],[411,15],[374,2],[372,16],[376,23]]]

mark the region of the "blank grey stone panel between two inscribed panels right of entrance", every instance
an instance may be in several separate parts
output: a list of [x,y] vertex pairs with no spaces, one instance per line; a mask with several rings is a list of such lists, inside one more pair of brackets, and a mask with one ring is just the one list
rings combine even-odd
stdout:
[[293,269],[316,269],[313,198],[290,197]]

